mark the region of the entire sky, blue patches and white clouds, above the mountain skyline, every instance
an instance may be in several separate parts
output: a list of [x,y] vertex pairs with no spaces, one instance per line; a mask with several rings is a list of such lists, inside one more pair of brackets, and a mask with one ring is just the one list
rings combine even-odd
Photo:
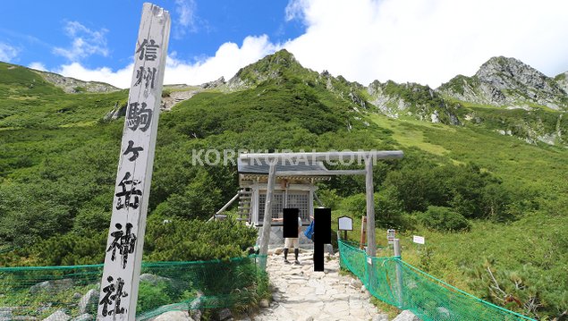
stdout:
[[[5,1],[0,61],[128,87],[143,1]],[[367,85],[437,87],[494,55],[568,71],[564,0],[160,0],[172,16],[165,83],[199,84],[286,48]]]

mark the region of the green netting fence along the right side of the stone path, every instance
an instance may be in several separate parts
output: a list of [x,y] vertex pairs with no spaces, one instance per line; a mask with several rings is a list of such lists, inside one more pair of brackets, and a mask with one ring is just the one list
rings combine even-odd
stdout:
[[534,320],[461,291],[401,258],[373,258],[352,242],[338,241],[341,265],[377,299],[429,320]]

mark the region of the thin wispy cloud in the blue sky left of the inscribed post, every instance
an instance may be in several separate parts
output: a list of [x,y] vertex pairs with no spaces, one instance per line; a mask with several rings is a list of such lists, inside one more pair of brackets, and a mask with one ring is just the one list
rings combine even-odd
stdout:
[[72,38],[71,47],[55,47],[55,55],[63,55],[71,62],[78,62],[89,55],[108,55],[105,37],[108,30],[89,30],[78,21],[68,21],[64,30]]

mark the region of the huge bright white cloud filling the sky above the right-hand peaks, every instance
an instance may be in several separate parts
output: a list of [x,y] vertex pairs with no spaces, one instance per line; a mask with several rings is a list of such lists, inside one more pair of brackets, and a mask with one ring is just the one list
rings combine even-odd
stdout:
[[495,55],[541,72],[568,69],[563,0],[292,0],[287,19],[305,34],[285,47],[306,67],[348,80],[437,87]]

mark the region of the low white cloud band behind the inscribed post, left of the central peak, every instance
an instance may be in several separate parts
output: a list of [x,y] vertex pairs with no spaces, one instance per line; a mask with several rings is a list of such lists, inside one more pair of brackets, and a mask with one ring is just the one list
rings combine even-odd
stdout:
[[[260,36],[245,38],[242,46],[227,42],[217,49],[215,56],[200,59],[195,63],[183,62],[173,53],[166,60],[164,83],[199,85],[222,76],[228,80],[243,66],[258,61],[276,49],[267,36]],[[53,72],[79,80],[103,81],[125,89],[130,87],[132,69],[133,63],[114,72],[107,67],[89,69],[75,62],[64,64]]]

